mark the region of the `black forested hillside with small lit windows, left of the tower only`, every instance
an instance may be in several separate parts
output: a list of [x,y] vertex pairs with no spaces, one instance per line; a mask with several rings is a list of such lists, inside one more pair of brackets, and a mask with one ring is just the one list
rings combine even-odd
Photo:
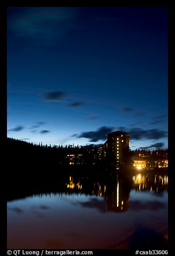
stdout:
[[[56,146],[28,143],[23,140],[7,138],[9,167],[51,169],[68,166],[70,162],[79,165],[98,163],[98,145]],[[93,152],[93,154],[92,154]],[[73,157],[69,157],[73,155]],[[73,158],[71,160],[71,158]]]

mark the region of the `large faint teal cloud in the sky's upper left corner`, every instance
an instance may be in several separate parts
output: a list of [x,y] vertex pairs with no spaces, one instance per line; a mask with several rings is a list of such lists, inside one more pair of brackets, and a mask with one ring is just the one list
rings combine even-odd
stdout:
[[56,44],[74,29],[76,8],[18,8],[8,12],[8,31],[30,45]]

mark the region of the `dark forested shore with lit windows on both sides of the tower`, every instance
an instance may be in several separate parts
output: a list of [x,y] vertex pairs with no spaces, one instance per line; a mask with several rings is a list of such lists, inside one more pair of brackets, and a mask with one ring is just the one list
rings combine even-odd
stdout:
[[[33,168],[38,170],[73,166],[101,166],[105,167],[107,150],[103,145],[43,145],[26,142],[19,139],[7,138],[9,168]],[[3,150],[3,149],[2,149]],[[159,149],[154,151],[135,150],[129,151],[130,157],[141,160],[168,159],[168,151]],[[71,166],[70,166],[71,165]]]

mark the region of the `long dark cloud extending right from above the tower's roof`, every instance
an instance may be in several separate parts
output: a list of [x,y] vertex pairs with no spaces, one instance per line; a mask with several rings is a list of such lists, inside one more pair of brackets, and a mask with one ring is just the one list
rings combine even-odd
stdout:
[[158,130],[158,129],[150,129],[150,130],[143,130],[141,128],[132,128],[127,129],[126,127],[118,127],[120,131],[126,131],[129,133],[130,139],[133,140],[142,140],[142,139],[161,139],[167,137],[167,132]]

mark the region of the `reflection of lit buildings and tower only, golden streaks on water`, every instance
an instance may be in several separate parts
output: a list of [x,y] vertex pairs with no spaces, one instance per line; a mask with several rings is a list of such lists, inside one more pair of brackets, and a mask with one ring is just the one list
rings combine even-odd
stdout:
[[87,178],[69,177],[65,183],[65,191],[68,194],[89,194],[104,197],[105,210],[122,212],[129,210],[129,193],[135,191],[152,191],[163,193],[168,188],[167,175],[136,174],[132,179],[126,176],[116,175],[111,180],[92,182]]

